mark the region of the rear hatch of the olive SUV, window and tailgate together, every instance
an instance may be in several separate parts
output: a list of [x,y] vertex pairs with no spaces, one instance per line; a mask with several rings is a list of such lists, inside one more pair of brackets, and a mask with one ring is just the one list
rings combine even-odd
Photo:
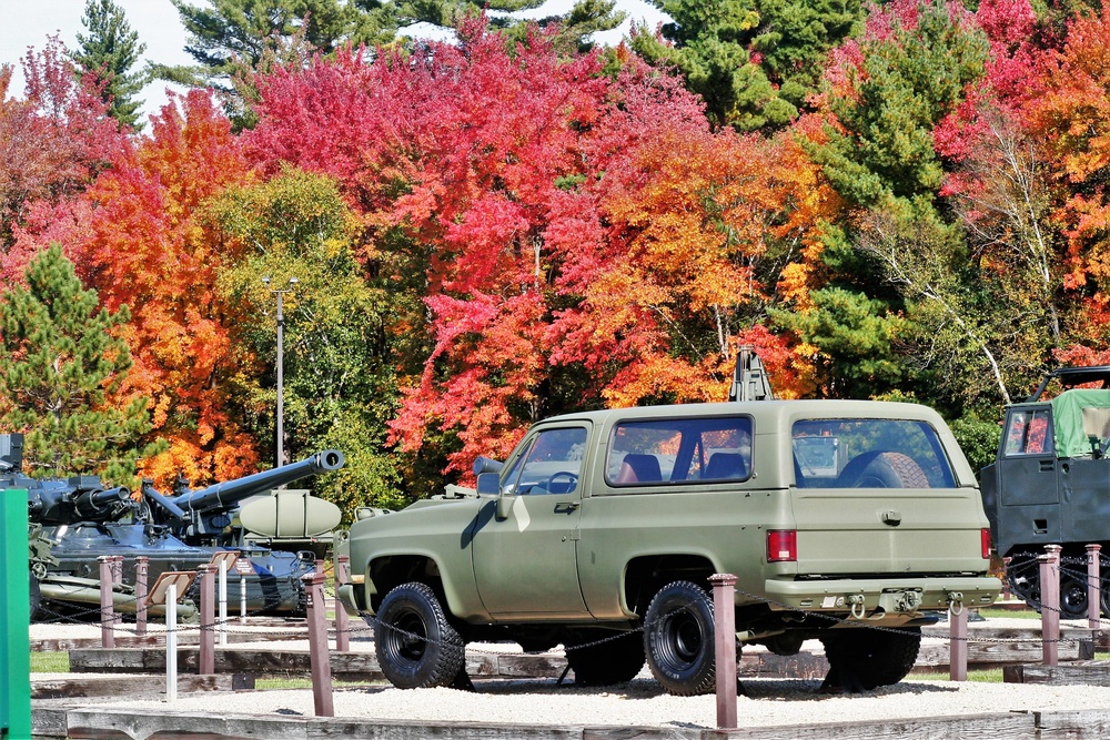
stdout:
[[927,422],[804,419],[793,439],[799,578],[986,569],[979,493]]

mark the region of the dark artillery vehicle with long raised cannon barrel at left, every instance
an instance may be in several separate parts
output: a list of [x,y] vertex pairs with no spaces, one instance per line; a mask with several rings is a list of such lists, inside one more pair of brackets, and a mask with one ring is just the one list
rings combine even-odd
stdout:
[[[27,489],[32,615],[39,609],[39,595],[56,604],[99,605],[99,556],[124,557],[124,582],[134,582],[135,557],[147,556],[153,582],[163,571],[192,570],[209,562],[220,550],[235,550],[250,564],[241,575],[252,612],[304,612],[301,577],[313,570],[315,556],[249,546],[236,514],[251,496],[340,469],[344,458],[339,450],[196,490],[179,486],[170,496],[144,480],[141,498],[135,499],[127,488],[105,488],[97,476],[38,480],[22,475],[22,435],[0,435],[0,493]],[[334,505],[313,500],[324,510],[317,518],[327,518],[332,527],[339,524]],[[115,601],[120,611],[134,608],[134,599],[125,592],[117,594]]]

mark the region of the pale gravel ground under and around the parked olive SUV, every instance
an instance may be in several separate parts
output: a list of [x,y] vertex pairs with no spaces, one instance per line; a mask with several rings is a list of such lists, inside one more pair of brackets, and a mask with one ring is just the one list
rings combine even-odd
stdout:
[[[972,624],[972,630],[978,626],[988,625]],[[992,619],[989,626],[1036,628],[1039,622]],[[1084,624],[1072,622],[1070,626],[1082,627]],[[32,637],[58,637],[63,631],[71,637],[95,637],[100,633],[99,627],[82,626],[78,629],[80,635],[73,633],[74,628],[34,626]],[[278,643],[255,645],[259,649],[273,650]],[[284,649],[306,648],[306,642],[280,645]],[[501,647],[496,649],[501,650]],[[806,647],[819,647],[819,643]],[[356,640],[352,642],[352,649],[372,649],[372,642]],[[482,646],[480,649],[494,648]],[[58,675],[34,678],[58,678]],[[774,726],[1052,709],[1110,710],[1110,691],[1088,686],[953,683],[911,679],[855,696],[821,695],[819,686],[820,681],[816,680],[744,679],[746,696],[738,699],[738,717],[746,726]],[[716,724],[715,697],[672,697],[650,679],[646,670],[635,680],[608,690],[561,687],[554,679],[483,680],[475,681],[475,688],[474,692],[455,689],[400,690],[384,685],[336,688],[335,716],[387,720],[527,721],[529,724],[551,726],[712,728]],[[314,713],[312,691],[307,689],[180,695],[172,706],[164,701],[120,701],[110,706],[140,712],[172,709],[219,714],[311,717]]]

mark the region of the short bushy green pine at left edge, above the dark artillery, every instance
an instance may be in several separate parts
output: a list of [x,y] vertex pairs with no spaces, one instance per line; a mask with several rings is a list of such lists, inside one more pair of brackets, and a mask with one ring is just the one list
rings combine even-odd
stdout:
[[58,244],[26,278],[0,294],[0,428],[27,435],[29,475],[133,476],[150,420],[147,399],[123,392],[131,354],[114,330],[130,312],[98,310]]

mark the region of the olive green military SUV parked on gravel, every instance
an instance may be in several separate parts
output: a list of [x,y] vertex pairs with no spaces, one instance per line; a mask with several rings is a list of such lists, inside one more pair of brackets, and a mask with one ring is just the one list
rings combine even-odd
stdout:
[[464,646],[562,643],[575,680],[647,661],[676,695],[715,685],[709,577],[737,577],[738,649],[819,638],[841,687],[896,683],[920,627],[991,604],[976,477],[929,408],[756,401],[535,425],[477,489],[351,528],[340,594],[398,687],[465,678]]

